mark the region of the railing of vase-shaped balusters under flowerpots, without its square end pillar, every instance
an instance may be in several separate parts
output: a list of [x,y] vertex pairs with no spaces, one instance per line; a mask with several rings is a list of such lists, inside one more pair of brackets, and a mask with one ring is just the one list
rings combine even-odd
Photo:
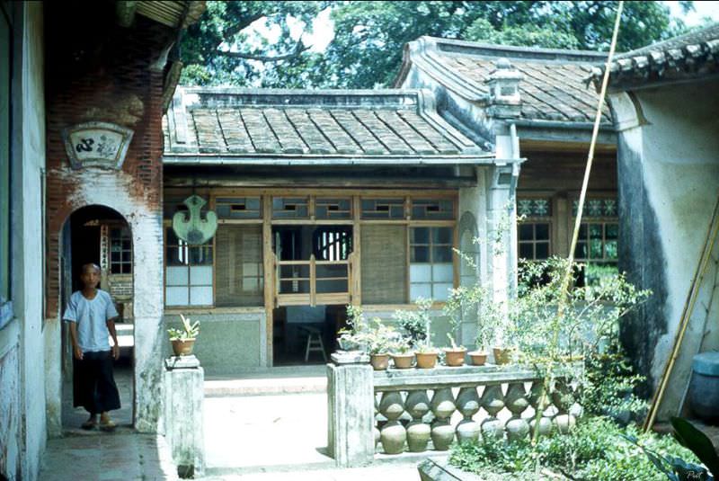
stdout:
[[[387,370],[373,375],[377,452],[448,450],[457,440],[518,441],[534,429],[543,379],[520,367],[439,367]],[[555,378],[545,399],[539,432],[566,432],[581,414],[572,387]]]

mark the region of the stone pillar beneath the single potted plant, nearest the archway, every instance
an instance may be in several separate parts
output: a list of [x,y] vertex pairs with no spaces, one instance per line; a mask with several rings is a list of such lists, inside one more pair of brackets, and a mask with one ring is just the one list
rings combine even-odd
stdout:
[[164,361],[165,437],[180,477],[202,476],[205,468],[204,379],[195,356],[173,356]]

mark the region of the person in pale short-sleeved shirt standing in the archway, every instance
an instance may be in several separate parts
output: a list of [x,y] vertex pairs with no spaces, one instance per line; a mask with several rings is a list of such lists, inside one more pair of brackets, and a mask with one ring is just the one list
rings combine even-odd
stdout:
[[[115,319],[119,315],[110,294],[97,289],[99,266],[84,264],[80,279],[83,289],[73,293],[63,315],[70,325],[75,359],[73,405],[83,406],[90,413],[82,424],[83,429],[94,429],[99,425],[100,429],[110,431],[115,428],[115,423],[108,412],[120,409],[120,394],[112,374],[112,360],[120,357],[115,332]],[[108,340],[110,336],[112,346]]]

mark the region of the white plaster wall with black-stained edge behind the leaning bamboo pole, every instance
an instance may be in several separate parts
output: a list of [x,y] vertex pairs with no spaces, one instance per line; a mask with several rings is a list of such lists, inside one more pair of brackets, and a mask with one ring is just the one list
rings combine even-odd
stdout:
[[[654,294],[624,335],[629,352],[655,384],[670,355],[719,194],[719,82],[635,94],[636,103],[626,95],[612,98],[621,129],[621,228],[631,233],[623,236],[621,258],[631,280]],[[686,355],[675,366],[672,379],[677,382],[670,382],[660,417],[679,408],[693,353],[717,347],[710,345],[716,334],[701,345],[707,314],[711,316],[706,307],[715,295],[715,267],[707,274],[712,286],[704,286],[697,302],[682,352]]]

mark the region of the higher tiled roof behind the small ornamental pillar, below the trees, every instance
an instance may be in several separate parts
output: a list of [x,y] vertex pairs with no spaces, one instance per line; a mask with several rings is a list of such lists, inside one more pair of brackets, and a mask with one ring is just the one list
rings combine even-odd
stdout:
[[[486,81],[500,58],[509,59],[522,75],[519,81],[522,119],[594,120],[599,97],[587,88],[586,77],[593,64],[607,58],[605,53],[421,37],[406,46],[395,85],[403,85],[410,67],[415,66],[455,94],[473,102],[486,102],[489,94]],[[602,114],[604,122],[611,122],[606,106]]]

